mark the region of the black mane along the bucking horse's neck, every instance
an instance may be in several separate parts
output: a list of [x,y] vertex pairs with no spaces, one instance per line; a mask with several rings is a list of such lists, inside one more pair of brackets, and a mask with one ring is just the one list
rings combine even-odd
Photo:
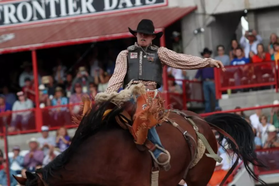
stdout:
[[[108,114],[106,114],[106,116],[104,116],[104,113],[110,104],[112,104],[111,99],[100,104],[95,104],[92,109],[89,109],[87,113],[84,113],[84,116],[80,118],[80,124],[69,148],[58,155],[44,168],[38,169],[36,173],[42,173],[45,181],[47,181],[50,176],[61,178],[61,175],[54,172],[62,168],[65,169],[65,165],[69,162],[73,154],[86,139],[93,136],[100,130],[110,130],[114,128],[114,126],[118,126],[115,122],[115,117],[119,116],[127,105],[123,104],[121,107],[119,105],[115,106]],[[121,117],[119,118],[121,119]],[[127,118],[125,119],[127,120]]]

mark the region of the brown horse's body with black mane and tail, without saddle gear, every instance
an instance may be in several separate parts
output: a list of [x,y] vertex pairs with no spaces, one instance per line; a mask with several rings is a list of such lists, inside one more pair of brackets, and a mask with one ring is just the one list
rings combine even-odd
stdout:
[[[22,185],[95,185],[95,186],[148,186],[150,185],[152,159],[148,151],[136,148],[132,135],[116,123],[125,106],[115,107],[103,118],[110,101],[95,105],[83,117],[72,143],[67,150],[36,173],[26,172],[27,179],[15,177]],[[197,114],[184,111],[188,116]],[[197,140],[195,130],[181,115],[171,112],[169,118]],[[262,165],[254,151],[254,134],[251,126],[235,114],[215,114],[205,118],[193,118],[194,122],[217,153],[217,143],[212,128],[217,126],[230,134],[237,145],[227,140],[231,149],[240,156],[251,177],[259,180],[248,167]],[[210,124],[214,124],[210,126]],[[160,170],[159,185],[175,186],[183,178],[191,161],[188,143],[182,133],[168,122],[157,127],[163,146],[171,154],[171,169]],[[219,144],[224,136],[220,134]],[[238,148],[238,147],[239,148]],[[206,186],[214,171],[216,161],[205,154],[188,171],[184,179],[188,186]]]

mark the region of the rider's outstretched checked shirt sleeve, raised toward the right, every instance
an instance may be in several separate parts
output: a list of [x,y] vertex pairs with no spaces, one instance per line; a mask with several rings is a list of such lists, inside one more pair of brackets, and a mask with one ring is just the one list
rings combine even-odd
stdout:
[[158,49],[158,56],[162,63],[179,69],[199,69],[204,67],[214,67],[214,59],[212,58],[200,58],[197,56],[191,56],[187,54],[178,54],[165,47]]

